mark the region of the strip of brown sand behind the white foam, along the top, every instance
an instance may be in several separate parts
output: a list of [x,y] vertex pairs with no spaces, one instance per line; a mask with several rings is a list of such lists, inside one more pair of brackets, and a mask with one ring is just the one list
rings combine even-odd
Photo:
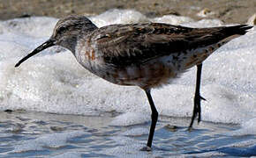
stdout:
[[242,24],[256,13],[256,0],[0,0],[0,19],[95,15],[113,8],[135,9],[148,17],[175,14],[194,19],[200,19],[197,13],[207,9],[215,12],[208,18]]

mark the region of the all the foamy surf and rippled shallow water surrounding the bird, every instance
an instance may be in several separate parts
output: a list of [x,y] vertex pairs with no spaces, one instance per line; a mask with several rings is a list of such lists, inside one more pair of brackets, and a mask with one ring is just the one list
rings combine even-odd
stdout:
[[[223,25],[218,19],[194,21],[173,15],[147,18],[130,10],[107,11],[90,19],[98,26],[148,21],[192,27]],[[147,142],[151,111],[139,88],[103,81],[81,68],[62,47],[46,49],[14,68],[17,61],[49,38],[56,21],[47,17],[0,21],[0,111],[14,111],[0,112],[0,157],[256,154],[255,28],[204,62],[204,122],[191,133],[187,126],[192,116],[195,68],[172,84],[152,90],[162,118],[156,127],[153,151],[147,153],[139,148]]]

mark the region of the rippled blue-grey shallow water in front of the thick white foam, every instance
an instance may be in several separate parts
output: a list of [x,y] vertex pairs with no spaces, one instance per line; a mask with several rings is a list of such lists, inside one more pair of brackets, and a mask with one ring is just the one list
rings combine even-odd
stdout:
[[4,157],[256,155],[255,136],[227,134],[238,129],[237,125],[201,122],[188,132],[189,118],[161,117],[156,126],[153,151],[142,152],[139,149],[146,145],[150,122],[136,126],[108,126],[113,120],[111,116],[25,111],[1,112],[0,116],[0,155]]

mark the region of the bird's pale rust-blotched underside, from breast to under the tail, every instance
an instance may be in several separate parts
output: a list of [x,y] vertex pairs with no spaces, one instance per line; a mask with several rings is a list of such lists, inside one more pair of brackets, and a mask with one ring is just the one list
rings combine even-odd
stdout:
[[178,74],[204,61],[217,47],[216,44],[160,56],[144,63],[118,65],[107,63],[101,51],[87,40],[78,43],[75,55],[84,68],[110,83],[147,89],[170,83]]

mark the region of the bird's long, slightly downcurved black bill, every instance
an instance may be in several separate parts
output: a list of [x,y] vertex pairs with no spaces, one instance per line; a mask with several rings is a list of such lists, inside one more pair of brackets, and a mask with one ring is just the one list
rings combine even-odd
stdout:
[[54,40],[52,39],[49,39],[47,40],[46,42],[44,42],[43,44],[41,44],[41,46],[37,47],[34,49],[34,51],[32,51],[30,54],[27,54],[24,58],[22,58],[16,65],[15,65],[15,68],[16,67],[19,67],[19,65],[26,61],[28,58],[30,58],[31,56],[35,55],[35,54],[38,54],[40,53],[42,50],[48,48],[48,47],[52,47],[54,46]]

